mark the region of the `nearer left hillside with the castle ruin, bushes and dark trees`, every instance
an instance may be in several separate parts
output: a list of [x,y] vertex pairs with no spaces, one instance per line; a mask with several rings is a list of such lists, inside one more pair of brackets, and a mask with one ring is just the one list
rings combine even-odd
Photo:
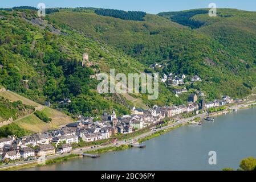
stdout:
[[[135,99],[127,94],[117,97],[98,94],[99,81],[92,78],[96,72],[109,73],[109,68],[115,68],[116,73],[139,73],[147,67],[67,24],[48,16],[47,20],[37,18],[35,11],[0,11],[0,15],[0,84],[7,89],[40,104],[50,100],[53,107],[74,115],[100,115],[104,110],[113,109],[117,114],[127,114],[131,105],[147,108],[154,104],[182,102],[164,86],[164,92],[156,101],[148,101],[143,95]],[[160,16],[147,18],[152,22],[162,19],[163,25],[172,24]],[[84,52],[94,64],[92,67],[81,66]],[[70,98],[72,103],[59,105],[64,98]]]

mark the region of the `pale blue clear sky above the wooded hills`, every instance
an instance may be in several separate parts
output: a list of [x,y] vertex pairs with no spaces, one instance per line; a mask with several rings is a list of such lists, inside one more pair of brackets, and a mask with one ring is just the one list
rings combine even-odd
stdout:
[[157,14],[162,11],[180,11],[208,7],[216,3],[217,7],[256,11],[255,0],[1,0],[0,7],[37,6],[46,7],[102,7],[119,10],[137,10]]

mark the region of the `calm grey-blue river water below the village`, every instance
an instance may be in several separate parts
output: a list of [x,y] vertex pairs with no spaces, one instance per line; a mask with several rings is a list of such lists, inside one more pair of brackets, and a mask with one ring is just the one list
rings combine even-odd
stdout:
[[[237,169],[239,162],[256,157],[256,108],[220,115],[201,126],[182,126],[148,140],[146,148],[79,158],[26,170],[221,170]],[[209,151],[217,164],[210,165]]]

